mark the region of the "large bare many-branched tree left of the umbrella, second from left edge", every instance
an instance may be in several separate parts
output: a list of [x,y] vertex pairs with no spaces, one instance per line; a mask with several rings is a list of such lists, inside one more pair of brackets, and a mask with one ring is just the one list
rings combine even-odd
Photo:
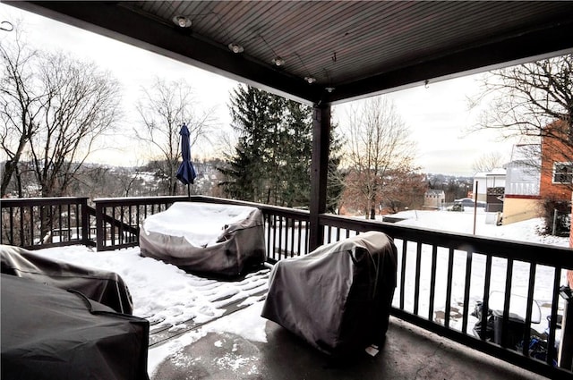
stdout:
[[95,63],[61,53],[38,56],[38,80],[47,103],[30,155],[43,197],[66,194],[94,142],[114,131],[119,83]]

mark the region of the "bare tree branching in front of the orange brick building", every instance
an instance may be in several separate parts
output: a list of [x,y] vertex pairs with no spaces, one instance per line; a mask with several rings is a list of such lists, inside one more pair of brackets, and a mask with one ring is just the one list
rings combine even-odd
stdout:
[[573,55],[489,73],[472,106],[487,101],[476,130],[497,129],[524,143],[543,139],[555,147],[543,149],[543,155],[573,162]]

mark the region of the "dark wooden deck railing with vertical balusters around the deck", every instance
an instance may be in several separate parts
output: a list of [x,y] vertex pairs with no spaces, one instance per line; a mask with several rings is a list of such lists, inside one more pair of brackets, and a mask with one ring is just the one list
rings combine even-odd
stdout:
[[[308,253],[308,211],[200,196],[95,199],[95,217],[90,217],[85,198],[3,199],[2,242],[32,249],[67,244],[95,244],[98,250],[133,247],[141,222],[176,201],[259,207],[269,262]],[[338,215],[320,215],[319,224],[324,243],[365,231],[385,232],[394,239],[394,316],[543,376],[573,376],[570,368],[557,367],[556,344],[559,317],[567,306],[560,285],[565,284],[566,271],[573,270],[571,249]],[[46,238],[48,232],[51,239]],[[495,301],[500,302],[493,305],[497,292],[501,297]],[[513,314],[517,300],[524,300],[523,319],[518,321]],[[480,305],[493,314],[474,317]],[[540,323],[535,323],[537,311]],[[475,328],[488,323],[493,332]]]

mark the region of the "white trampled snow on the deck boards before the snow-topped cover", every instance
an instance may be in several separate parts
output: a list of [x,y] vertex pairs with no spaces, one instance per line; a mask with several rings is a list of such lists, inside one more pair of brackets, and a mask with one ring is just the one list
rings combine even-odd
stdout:
[[266,276],[247,275],[243,281],[223,283],[187,274],[177,266],[142,258],[139,248],[95,252],[84,246],[40,249],[38,254],[119,274],[133,298],[133,315],[144,317],[154,328],[185,327],[220,317],[234,300],[267,289]]

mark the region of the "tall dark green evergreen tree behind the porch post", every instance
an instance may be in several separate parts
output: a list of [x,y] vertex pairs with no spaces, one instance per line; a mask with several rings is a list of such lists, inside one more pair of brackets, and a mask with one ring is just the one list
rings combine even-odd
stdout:
[[[226,157],[227,164],[218,168],[225,177],[220,186],[227,197],[284,207],[308,206],[312,108],[241,86],[232,94],[231,114],[239,142],[234,154]],[[338,175],[341,143],[333,136],[329,160],[332,212],[342,193]]]

